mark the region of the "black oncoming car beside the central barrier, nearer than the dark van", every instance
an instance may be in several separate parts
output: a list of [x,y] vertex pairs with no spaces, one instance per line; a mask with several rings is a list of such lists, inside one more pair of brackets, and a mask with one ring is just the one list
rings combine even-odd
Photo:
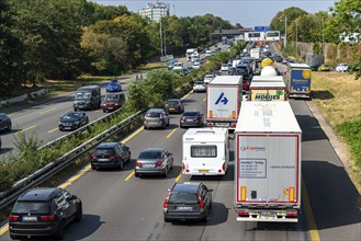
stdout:
[[89,123],[89,117],[84,112],[68,112],[59,122],[59,130],[78,129]]

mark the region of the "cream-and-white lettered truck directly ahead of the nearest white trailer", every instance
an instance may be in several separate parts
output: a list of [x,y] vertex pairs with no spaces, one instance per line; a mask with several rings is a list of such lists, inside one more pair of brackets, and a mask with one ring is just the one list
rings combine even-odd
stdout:
[[252,81],[249,87],[249,101],[286,101],[286,88],[283,81]]

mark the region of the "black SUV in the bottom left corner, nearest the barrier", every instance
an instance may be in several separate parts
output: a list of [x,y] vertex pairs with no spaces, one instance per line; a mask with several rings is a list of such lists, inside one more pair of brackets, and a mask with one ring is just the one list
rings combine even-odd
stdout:
[[9,216],[11,239],[63,238],[67,225],[80,221],[80,198],[63,188],[34,188],[22,194]]

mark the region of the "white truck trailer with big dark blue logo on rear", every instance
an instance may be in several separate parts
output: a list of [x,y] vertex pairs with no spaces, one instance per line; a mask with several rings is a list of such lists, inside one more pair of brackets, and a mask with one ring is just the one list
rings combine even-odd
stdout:
[[216,76],[206,87],[206,125],[234,129],[242,101],[241,76]]

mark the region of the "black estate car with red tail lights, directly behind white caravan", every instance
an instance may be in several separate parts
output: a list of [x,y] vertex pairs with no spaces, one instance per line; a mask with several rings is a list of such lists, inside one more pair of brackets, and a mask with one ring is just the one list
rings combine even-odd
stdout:
[[203,183],[174,183],[163,204],[165,221],[206,221],[212,192]]

